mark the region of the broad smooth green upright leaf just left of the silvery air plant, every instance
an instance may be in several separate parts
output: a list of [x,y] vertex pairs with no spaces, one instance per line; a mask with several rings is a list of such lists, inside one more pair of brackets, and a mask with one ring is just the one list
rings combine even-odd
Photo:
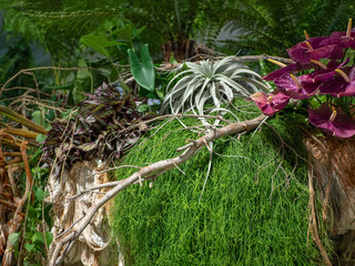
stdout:
[[131,49],[128,50],[128,53],[134,80],[145,90],[153,92],[155,89],[155,70],[151,55],[149,54],[148,44],[144,44],[141,51],[142,62]]

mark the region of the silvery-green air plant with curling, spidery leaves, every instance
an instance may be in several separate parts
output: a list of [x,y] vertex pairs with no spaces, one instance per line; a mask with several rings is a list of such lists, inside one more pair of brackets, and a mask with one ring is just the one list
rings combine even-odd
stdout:
[[189,69],[179,73],[168,84],[160,113],[193,112],[204,115],[217,112],[219,115],[224,115],[230,111],[222,106],[231,103],[234,98],[248,98],[255,92],[268,91],[268,86],[256,72],[232,58],[200,63],[186,62],[185,65]]

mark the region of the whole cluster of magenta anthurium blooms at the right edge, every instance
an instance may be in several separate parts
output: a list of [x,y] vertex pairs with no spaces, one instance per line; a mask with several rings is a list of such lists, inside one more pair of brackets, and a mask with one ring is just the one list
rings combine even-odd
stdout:
[[[355,49],[352,19],[345,32],[315,38],[310,38],[305,32],[305,39],[287,49],[294,63],[284,65],[274,61],[282,68],[264,76],[264,80],[273,81],[277,89],[268,94],[255,93],[250,99],[268,116],[280,112],[291,99],[301,100],[308,105],[308,122],[312,125],[337,137],[351,137],[355,135],[352,111],[355,65],[349,64],[346,51]],[[305,70],[313,72],[304,73]],[[277,100],[276,108],[274,99]]]

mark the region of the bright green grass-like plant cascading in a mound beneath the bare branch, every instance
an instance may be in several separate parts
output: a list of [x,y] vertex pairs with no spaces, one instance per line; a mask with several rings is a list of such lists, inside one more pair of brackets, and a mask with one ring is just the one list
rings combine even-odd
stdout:
[[[257,113],[237,115],[245,120]],[[152,187],[145,182],[119,194],[111,222],[126,265],[318,264],[307,237],[306,155],[294,121],[292,114],[276,115],[255,133],[217,140],[214,152],[222,155],[213,155],[201,201],[207,149],[159,176]],[[142,139],[120,164],[145,166],[176,156],[175,149],[196,137],[174,120]],[[133,171],[115,175],[124,178]]]

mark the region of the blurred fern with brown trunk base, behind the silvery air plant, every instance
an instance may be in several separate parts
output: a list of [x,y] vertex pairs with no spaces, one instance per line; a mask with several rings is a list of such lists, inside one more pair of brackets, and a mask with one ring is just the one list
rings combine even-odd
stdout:
[[212,18],[204,18],[204,12],[211,8],[210,2],[126,0],[123,1],[122,13],[136,28],[146,27],[155,35],[154,39],[162,44],[164,62],[172,57],[180,61],[193,55],[193,40],[203,28],[213,24]]

